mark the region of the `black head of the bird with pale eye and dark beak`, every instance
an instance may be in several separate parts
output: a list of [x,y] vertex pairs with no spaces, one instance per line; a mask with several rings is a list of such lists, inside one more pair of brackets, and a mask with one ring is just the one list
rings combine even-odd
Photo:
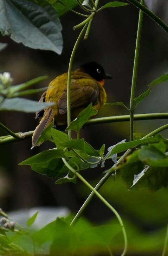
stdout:
[[102,81],[103,79],[112,78],[112,76],[107,75],[103,67],[95,61],[85,63],[80,66],[84,72],[89,74],[97,81]]

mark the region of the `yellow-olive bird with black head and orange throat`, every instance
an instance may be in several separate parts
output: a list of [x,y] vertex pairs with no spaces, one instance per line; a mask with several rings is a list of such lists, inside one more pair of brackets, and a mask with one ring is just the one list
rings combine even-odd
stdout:
[[[39,102],[55,102],[56,104],[36,112],[35,119],[41,118],[41,120],[33,133],[33,147],[37,145],[43,130],[53,120],[57,129],[67,124],[67,77],[68,73],[57,76],[40,98]],[[97,110],[104,105],[106,92],[103,85],[106,78],[112,77],[107,75],[103,67],[95,61],[83,64],[72,72],[70,91],[72,120],[91,102],[93,108]]]

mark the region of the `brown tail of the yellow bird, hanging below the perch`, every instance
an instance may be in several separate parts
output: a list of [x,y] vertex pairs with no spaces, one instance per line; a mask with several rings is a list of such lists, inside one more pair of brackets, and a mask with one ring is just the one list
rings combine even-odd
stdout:
[[35,131],[33,133],[32,137],[32,148],[37,146],[37,142],[39,140],[39,137],[41,133],[44,131],[44,129],[49,126],[49,124],[52,122],[54,117],[53,109],[49,108],[45,111],[44,117],[41,119],[39,125],[35,128]]

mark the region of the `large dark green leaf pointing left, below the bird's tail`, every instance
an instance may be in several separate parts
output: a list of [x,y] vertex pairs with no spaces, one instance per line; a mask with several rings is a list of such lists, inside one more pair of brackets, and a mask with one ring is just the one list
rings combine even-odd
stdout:
[[65,157],[62,149],[51,149],[34,155],[22,161],[19,165],[30,165],[35,172],[47,175],[50,178],[60,178],[66,174],[66,172],[62,173],[62,167],[64,166],[62,157]]

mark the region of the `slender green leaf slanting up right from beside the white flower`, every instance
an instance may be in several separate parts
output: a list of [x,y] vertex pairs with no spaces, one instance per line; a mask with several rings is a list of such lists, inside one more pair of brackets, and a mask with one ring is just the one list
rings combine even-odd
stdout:
[[26,83],[22,83],[22,84],[18,84],[18,85],[14,85],[14,86],[11,86],[9,88],[9,94],[14,94],[14,93],[17,93],[18,91],[23,91],[25,89],[27,89],[28,87],[34,85],[34,84],[37,84],[45,79],[47,79],[48,76],[40,76],[40,77],[37,77],[37,78],[34,78]]

